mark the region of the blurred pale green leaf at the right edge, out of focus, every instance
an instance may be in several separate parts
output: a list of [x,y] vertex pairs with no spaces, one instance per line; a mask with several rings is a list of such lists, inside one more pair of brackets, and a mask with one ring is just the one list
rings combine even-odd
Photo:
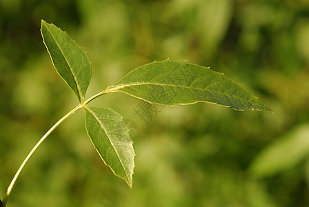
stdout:
[[252,162],[250,171],[256,177],[276,175],[299,164],[308,155],[309,125],[303,125],[262,150]]

